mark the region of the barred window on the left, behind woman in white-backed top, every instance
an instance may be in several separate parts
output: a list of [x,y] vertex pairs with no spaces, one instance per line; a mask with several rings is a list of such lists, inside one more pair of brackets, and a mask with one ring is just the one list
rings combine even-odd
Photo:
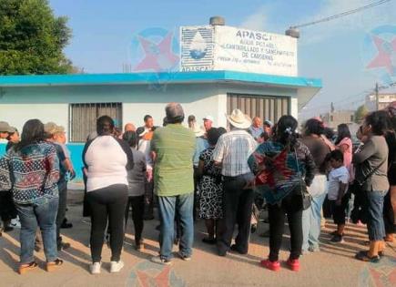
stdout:
[[113,118],[116,128],[122,129],[122,103],[70,104],[69,141],[86,142],[86,137],[96,131],[96,119]]

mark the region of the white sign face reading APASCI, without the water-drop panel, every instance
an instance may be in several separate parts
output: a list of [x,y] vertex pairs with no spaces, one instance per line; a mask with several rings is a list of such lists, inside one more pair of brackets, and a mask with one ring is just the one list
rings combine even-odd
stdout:
[[215,26],[215,70],[297,76],[297,39]]

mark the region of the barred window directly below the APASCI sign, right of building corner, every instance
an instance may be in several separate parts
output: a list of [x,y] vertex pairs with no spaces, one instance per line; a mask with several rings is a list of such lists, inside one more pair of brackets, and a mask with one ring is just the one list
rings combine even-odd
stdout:
[[290,100],[289,97],[228,93],[228,115],[234,108],[239,108],[250,118],[259,117],[276,123],[283,115],[289,115]]

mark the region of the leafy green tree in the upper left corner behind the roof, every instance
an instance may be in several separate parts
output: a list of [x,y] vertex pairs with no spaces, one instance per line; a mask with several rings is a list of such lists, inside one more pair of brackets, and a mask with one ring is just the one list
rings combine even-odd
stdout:
[[63,53],[71,37],[66,23],[47,0],[0,0],[0,75],[72,72]]

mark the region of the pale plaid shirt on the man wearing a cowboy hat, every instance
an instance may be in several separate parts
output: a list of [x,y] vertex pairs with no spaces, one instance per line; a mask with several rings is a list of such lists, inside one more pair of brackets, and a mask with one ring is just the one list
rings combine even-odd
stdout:
[[257,142],[246,130],[234,129],[218,138],[213,159],[222,163],[221,174],[237,177],[250,172],[248,159]]

